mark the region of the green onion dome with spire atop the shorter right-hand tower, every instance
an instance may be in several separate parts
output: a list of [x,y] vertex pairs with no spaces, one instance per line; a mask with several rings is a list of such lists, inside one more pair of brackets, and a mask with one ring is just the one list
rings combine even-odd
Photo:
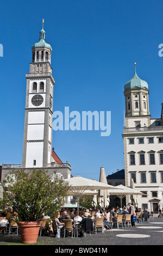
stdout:
[[133,78],[131,78],[130,81],[128,81],[126,84],[124,84],[124,90],[131,89],[134,87],[144,88],[146,87],[148,89],[148,84],[146,81],[142,80],[137,76],[136,74],[136,66],[135,66],[135,73]]

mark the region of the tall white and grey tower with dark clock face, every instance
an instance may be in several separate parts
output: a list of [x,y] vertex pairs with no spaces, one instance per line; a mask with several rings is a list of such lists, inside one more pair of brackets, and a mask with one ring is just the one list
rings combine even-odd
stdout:
[[32,62],[26,74],[22,168],[47,167],[52,157],[53,86],[52,47],[45,41],[45,31],[32,46]]

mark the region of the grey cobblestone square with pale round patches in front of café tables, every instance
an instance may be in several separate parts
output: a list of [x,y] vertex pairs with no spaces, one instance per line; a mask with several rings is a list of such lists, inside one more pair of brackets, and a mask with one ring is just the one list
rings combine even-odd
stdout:
[[[101,229],[97,234],[86,234],[86,237],[55,238],[54,236],[39,236],[35,245],[53,246],[109,246],[109,245],[163,245],[163,217],[155,217],[154,221],[136,224],[135,227],[114,228],[112,233]],[[0,233],[0,245],[23,245],[21,236]],[[109,248],[109,247],[108,247]]]

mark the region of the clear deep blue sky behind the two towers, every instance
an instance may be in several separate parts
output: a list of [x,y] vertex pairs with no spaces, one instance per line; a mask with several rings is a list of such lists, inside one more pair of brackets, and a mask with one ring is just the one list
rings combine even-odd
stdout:
[[32,45],[45,19],[55,79],[53,111],[111,111],[111,135],[100,131],[53,131],[53,147],[72,175],[99,180],[124,168],[124,84],[134,75],[147,81],[149,111],[160,118],[163,43],[161,1],[3,1],[0,15],[0,164],[21,163],[26,73]]

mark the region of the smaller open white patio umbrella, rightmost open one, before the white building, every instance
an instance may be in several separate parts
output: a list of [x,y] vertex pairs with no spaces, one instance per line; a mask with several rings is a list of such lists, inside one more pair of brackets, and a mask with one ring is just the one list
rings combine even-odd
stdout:
[[121,200],[121,208],[122,208],[122,198],[124,198],[127,194],[131,195],[131,194],[134,194],[134,195],[145,195],[144,193],[142,192],[139,192],[139,191],[136,191],[136,190],[133,190],[132,188],[130,187],[126,187],[126,186],[123,186],[123,185],[118,185],[118,186],[115,186],[116,190],[109,190],[109,193],[110,193],[110,196],[117,196],[118,198],[120,198]]

